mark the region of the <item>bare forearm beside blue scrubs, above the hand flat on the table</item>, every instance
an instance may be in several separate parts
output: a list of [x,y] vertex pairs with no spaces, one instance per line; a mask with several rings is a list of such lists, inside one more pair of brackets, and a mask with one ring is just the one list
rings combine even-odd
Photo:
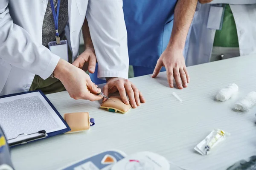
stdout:
[[178,0],[174,12],[174,24],[167,48],[183,50],[198,0]]

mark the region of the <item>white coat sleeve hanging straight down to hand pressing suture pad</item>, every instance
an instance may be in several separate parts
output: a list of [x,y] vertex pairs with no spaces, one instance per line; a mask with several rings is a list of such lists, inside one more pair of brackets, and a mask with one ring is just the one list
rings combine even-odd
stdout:
[[98,78],[127,79],[129,56],[122,0],[89,0],[88,6],[86,18],[99,63]]

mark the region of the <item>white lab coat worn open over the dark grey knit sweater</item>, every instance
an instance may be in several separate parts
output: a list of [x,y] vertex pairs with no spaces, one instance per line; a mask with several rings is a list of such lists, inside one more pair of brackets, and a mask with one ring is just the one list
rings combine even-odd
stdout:
[[[48,78],[59,57],[42,45],[48,0],[0,0],[0,95],[29,91],[35,74]],[[122,0],[68,0],[66,29],[78,56],[85,15],[99,62],[98,77],[128,78],[127,32]],[[68,32],[67,32],[68,30]]]

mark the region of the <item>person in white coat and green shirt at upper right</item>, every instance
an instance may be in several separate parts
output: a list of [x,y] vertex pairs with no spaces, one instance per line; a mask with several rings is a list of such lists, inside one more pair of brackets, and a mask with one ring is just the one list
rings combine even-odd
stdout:
[[186,40],[186,65],[256,53],[255,21],[256,0],[199,0]]

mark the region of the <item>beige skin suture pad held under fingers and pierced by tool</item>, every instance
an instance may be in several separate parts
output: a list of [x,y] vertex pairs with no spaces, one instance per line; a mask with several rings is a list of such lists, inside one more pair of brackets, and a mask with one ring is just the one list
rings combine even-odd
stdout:
[[122,102],[122,99],[119,96],[111,96],[110,99],[103,102],[100,107],[107,108],[110,112],[119,111],[121,113],[126,113],[131,109],[131,104],[129,103],[126,105],[124,102]]

